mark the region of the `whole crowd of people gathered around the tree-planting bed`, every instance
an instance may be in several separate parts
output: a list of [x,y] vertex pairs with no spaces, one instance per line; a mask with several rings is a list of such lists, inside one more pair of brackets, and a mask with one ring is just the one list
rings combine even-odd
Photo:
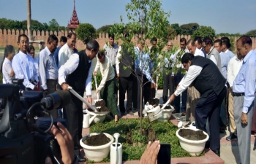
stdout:
[[[128,39],[129,34],[125,34],[124,38],[127,42],[131,42]],[[86,91],[86,100],[92,104],[91,77],[95,76],[99,69],[102,80],[97,87],[97,94],[99,98],[105,100],[106,106],[110,109],[110,115],[117,122],[117,92],[119,91],[121,115],[133,115],[133,112],[138,112],[142,117],[140,96],[144,104],[155,98],[159,74],[155,76],[154,72],[162,70],[161,76],[164,81],[162,99],[164,103],[170,101],[170,104],[175,107],[173,113],[181,112],[181,115],[186,116],[186,120],[189,121],[187,126],[193,123],[202,130],[206,130],[206,122],[202,120],[208,118],[210,138],[225,131],[229,125],[230,136],[226,139],[229,141],[238,139],[239,148],[247,149],[247,152],[240,151],[242,163],[247,163],[246,158],[248,158],[250,147],[247,142],[246,144],[240,143],[243,143],[244,138],[250,136],[251,132],[256,136],[256,113],[254,112],[256,50],[252,50],[252,40],[248,36],[241,36],[236,42],[237,55],[230,50],[231,44],[228,37],[215,41],[210,37],[203,40],[197,37],[188,41],[181,38],[180,48],[176,52],[173,52],[173,43],[168,41],[167,50],[165,50],[167,55],[162,64],[156,62],[156,58],[161,58],[161,55],[158,53],[155,37],[151,39],[148,52],[143,51],[145,42],[138,39],[134,47],[136,58],[132,57],[132,53],[125,44],[118,46],[115,43],[115,36],[111,34],[103,50],[99,50],[96,40],[88,42],[86,49],[80,52],[75,49],[75,43],[75,33],[71,32],[67,37],[61,36],[60,41],[52,34],[48,37],[46,47],[40,50],[38,57],[35,57],[35,49],[29,45],[29,38],[21,34],[18,36],[18,52],[15,52],[12,45],[5,47],[4,60],[1,63],[3,83],[11,84],[14,78],[24,79],[25,90],[41,90],[45,95],[54,93],[56,90],[69,90],[69,86],[72,86],[81,96]],[[92,70],[91,60],[96,56],[97,63],[95,69]],[[210,67],[211,70],[217,71],[206,71]],[[227,90],[223,89],[225,98],[222,98],[221,103],[215,106],[216,108],[200,111],[200,106],[210,106],[205,103],[208,102],[212,93],[218,96],[224,92],[222,88],[219,88],[219,93],[217,93],[218,84],[215,84],[215,88],[212,85],[215,81],[209,81],[206,84],[207,78],[216,79],[219,73],[222,74],[219,79],[225,80],[223,85]],[[143,84],[141,93],[140,84]],[[209,89],[202,90],[198,84],[200,87]],[[182,98],[180,98],[180,93],[182,93]],[[124,106],[125,94],[127,94],[126,106]],[[69,133],[75,143],[75,154],[78,155],[80,161],[84,161],[78,151],[83,122],[83,103],[74,95],[71,95],[71,99],[69,105],[63,109],[63,116],[61,109],[52,110],[50,114],[53,117],[61,116],[68,120]],[[204,100],[203,103],[202,100]],[[216,100],[219,101],[218,98]],[[214,111],[217,111],[218,118],[216,116],[211,118]],[[219,132],[212,133],[212,127],[218,128]],[[211,139],[206,144],[207,146],[219,155],[219,147],[213,148]]]

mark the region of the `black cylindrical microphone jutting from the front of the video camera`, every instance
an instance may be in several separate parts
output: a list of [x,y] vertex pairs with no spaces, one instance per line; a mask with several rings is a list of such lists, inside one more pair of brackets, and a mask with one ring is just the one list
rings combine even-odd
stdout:
[[52,110],[63,108],[69,104],[70,99],[69,91],[57,90],[54,93],[46,95],[45,98],[42,98],[42,109]]

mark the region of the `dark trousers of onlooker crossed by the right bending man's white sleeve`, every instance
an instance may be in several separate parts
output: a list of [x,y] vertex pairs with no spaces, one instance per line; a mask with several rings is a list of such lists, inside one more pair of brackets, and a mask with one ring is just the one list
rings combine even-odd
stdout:
[[[175,87],[178,86],[178,83],[181,82],[181,79],[184,77],[183,74],[181,74],[181,71],[178,71],[178,73],[176,74],[176,76],[174,76],[174,85]],[[184,90],[184,92],[182,93],[182,106],[180,107],[180,95],[176,96],[176,98],[174,99],[174,106],[176,109],[176,112],[186,112],[187,109],[187,90]]]

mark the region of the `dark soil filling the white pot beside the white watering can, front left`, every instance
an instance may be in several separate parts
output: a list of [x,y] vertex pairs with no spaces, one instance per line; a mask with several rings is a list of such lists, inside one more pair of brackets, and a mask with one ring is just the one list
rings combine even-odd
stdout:
[[108,144],[110,142],[110,138],[108,138],[104,133],[100,133],[99,135],[90,136],[83,141],[83,144],[88,146],[100,146],[104,144]]

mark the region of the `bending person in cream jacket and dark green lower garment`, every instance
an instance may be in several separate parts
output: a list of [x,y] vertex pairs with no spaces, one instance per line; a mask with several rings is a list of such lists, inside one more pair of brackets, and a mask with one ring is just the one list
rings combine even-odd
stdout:
[[97,75],[97,71],[100,69],[102,74],[102,81],[97,90],[99,98],[102,98],[106,102],[106,106],[110,109],[111,114],[115,116],[115,122],[118,121],[117,102],[115,97],[115,71],[112,63],[105,52],[99,51],[97,64],[94,69],[94,76]]

